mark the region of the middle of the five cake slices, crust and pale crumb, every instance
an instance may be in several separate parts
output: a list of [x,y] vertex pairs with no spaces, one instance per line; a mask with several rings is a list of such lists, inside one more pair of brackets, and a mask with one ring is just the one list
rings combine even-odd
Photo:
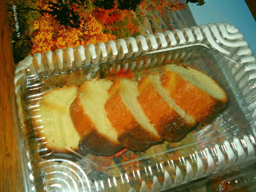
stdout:
[[120,143],[140,151],[161,140],[137,101],[139,92],[136,80],[117,78],[108,93],[105,110]]

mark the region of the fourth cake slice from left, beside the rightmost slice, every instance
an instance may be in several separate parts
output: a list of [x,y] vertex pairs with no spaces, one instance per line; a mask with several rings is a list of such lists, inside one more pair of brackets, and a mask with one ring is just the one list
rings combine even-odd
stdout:
[[195,119],[176,105],[161,86],[160,74],[144,76],[138,91],[141,108],[162,138],[178,141],[195,125]]

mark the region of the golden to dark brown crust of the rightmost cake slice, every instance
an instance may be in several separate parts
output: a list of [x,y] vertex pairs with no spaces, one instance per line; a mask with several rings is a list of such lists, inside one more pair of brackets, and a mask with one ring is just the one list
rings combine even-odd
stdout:
[[215,99],[172,71],[162,74],[161,84],[169,91],[174,102],[188,115],[194,117],[198,123],[213,119],[225,105],[225,102]]

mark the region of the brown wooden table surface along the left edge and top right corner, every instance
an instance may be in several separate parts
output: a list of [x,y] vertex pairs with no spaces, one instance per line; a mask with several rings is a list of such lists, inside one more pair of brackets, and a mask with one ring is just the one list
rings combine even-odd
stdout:
[[[245,0],[256,18],[256,0]],[[14,63],[5,1],[0,0],[0,191],[20,191],[21,179],[11,119]]]

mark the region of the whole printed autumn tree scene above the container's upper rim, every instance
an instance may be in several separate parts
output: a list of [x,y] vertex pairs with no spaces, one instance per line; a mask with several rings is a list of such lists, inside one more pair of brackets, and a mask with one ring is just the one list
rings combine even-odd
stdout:
[[[21,37],[11,12],[16,6]],[[27,54],[156,32],[156,12],[181,10],[177,0],[15,0],[7,3],[15,62]],[[153,12],[153,13],[151,13]],[[153,18],[155,21],[151,21]],[[163,18],[164,19],[164,18]],[[149,25],[149,26],[148,26]],[[149,27],[149,28],[148,28]],[[164,30],[164,29],[163,29]],[[160,30],[161,31],[161,30]],[[19,55],[15,55],[15,48]],[[22,52],[23,51],[23,52]]]

